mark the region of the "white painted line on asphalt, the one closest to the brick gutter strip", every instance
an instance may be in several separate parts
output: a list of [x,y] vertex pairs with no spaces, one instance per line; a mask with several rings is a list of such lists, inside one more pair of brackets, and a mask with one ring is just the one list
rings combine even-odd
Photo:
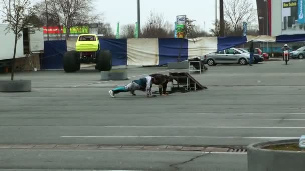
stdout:
[[216,138],[216,139],[298,139],[299,137],[247,137],[247,136],[61,136],[62,138]]

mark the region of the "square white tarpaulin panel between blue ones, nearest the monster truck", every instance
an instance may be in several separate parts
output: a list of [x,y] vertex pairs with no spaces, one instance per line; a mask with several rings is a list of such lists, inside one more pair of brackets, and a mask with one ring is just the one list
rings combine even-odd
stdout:
[[127,65],[159,65],[158,38],[127,39]]

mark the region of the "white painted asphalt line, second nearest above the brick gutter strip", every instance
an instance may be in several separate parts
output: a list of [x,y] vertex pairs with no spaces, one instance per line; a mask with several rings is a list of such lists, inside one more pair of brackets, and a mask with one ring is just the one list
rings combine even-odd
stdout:
[[305,129],[305,127],[264,126],[104,126],[105,128],[220,128],[220,129]]

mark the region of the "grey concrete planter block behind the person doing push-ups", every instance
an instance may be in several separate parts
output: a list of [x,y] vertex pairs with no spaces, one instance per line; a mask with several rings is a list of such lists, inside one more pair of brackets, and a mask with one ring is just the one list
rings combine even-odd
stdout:
[[112,69],[101,72],[101,80],[128,80],[127,69]]

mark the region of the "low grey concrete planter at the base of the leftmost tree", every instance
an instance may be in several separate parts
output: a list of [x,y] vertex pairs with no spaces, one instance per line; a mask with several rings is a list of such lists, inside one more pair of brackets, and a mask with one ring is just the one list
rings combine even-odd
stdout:
[[29,92],[31,90],[30,80],[0,80],[0,92]]

